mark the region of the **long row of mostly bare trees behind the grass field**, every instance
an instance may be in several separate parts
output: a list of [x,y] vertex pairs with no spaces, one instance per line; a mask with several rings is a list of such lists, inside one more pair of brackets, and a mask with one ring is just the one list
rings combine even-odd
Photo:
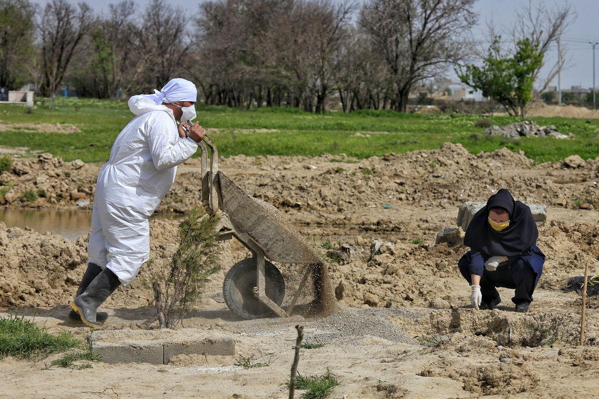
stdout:
[[[513,90],[480,80],[489,74],[503,80],[503,72],[489,69],[491,60],[508,68],[500,41],[483,57],[482,69],[469,64],[476,55],[469,39],[475,1],[370,0],[358,7],[350,0],[215,0],[199,4],[192,18],[165,0],[152,0],[144,10],[122,0],[101,15],[67,0],[39,8],[29,0],[0,0],[0,86],[33,82],[52,97],[68,84],[80,96],[110,98],[186,77],[207,104],[325,112],[335,94],[346,112],[406,111],[416,86],[468,65],[462,66],[464,81],[501,103],[505,95],[498,90],[518,92],[509,108],[524,108],[520,93],[528,86]],[[530,87],[543,66],[543,46],[559,38],[570,15],[569,8],[543,14],[542,4],[530,6],[528,22],[521,18],[520,31],[513,31],[521,36],[516,51],[503,50]]]

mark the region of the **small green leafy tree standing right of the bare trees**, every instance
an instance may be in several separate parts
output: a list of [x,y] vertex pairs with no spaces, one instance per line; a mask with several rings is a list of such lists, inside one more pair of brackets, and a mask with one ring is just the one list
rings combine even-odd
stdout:
[[459,67],[458,77],[462,83],[476,90],[482,90],[501,105],[511,115],[524,117],[533,99],[534,74],[543,63],[543,53],[539,45],[530,39],[516,43],[513,56],[502,56],[500,39],[489,47],[482,66],[466,65]]

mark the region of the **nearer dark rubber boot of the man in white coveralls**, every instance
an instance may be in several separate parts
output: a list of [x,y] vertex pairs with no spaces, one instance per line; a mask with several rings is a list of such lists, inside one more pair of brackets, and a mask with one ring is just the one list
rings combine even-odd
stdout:
[[119,278],[110,269],[105,268],[90,282],[83,294],[71,302],[71,307],[89,327],[102,327],[102,322],[96,320],[98,306],[104,303],[119,285]]

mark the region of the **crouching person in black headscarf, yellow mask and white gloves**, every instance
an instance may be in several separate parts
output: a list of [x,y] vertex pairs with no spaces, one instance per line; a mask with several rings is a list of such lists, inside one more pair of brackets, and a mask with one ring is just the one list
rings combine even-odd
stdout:
[[505,188],[476,212],[464,237],[470,251],[458,262],[472,288],[470,302],[475,309],[497,306],[501,298],[496,287],[504,287],[515,290],[516,312],[528,312],[545,261],[538,236],[530,208]]

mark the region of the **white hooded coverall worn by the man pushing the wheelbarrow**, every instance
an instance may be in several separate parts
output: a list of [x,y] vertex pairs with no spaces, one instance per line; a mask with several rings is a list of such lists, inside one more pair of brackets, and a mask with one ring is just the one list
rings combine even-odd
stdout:
[[89,261],[108,267],[128,285],[150,256],[148,218],[171,188],[177,165],[198,149],[181,139],[173,111],[147,96],[133,96],[135,117],[119,133],[98,175]]

